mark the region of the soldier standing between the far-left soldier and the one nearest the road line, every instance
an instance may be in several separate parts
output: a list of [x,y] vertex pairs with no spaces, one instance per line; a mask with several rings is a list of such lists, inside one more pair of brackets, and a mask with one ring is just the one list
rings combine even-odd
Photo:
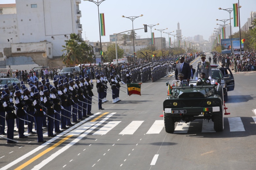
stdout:
[[18,87],[16,87],[15,89],[15,95],[16,95],[15,106],[17,107],[16,115],[18,117],[16,121],[18,121],[19,138],[27,138],[27,136],[24,135],[24,118],[25,118],[24,106],[26,105],[26,103],[24,99],[21,98],[21,93]]

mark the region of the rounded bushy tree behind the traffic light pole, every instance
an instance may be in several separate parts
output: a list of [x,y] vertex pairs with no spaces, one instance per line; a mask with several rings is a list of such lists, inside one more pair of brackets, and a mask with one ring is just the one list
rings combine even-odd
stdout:
[[[124,50],[117,46],[117,56],[118,58],[123,58]],[[112,43],[107,47],[107,51],[103,53],[106,62],[113,62],[116,59],[116,44]]]

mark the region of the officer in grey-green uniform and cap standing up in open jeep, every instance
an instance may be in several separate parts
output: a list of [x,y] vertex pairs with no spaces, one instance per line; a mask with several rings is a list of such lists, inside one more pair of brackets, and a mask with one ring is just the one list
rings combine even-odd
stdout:
[[198,74],[201,74],[202,72],[205,73],[205,78],[212,79],[212,67],[210,62],[205,61],[206,55],[201,54],[201,60],[200,62],[197,62],[197,67],[196,67],[196,80],[198,80]]

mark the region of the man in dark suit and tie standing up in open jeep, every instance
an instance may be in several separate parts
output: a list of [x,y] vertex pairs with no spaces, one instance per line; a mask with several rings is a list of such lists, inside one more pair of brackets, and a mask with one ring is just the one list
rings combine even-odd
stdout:
[[184,57],[180,57],[179,59],[179,63],[176,65],[176,69],[175,69],[175,80],[178,80],[178,74],[182,73],[184,74],[184,79],[187,80],[187,82],[189,82],[189,79],[191,77],[191,69],[188,63],[185,63],[185,58]]

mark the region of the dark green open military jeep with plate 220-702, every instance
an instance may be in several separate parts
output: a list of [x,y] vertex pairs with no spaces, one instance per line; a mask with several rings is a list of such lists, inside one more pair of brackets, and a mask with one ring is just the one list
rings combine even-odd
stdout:
[[212,119],[214,130],[223,130],[224,100],[220,84],[172,87],[166,82],[166,85],[169,96],[163,102],[163,117],[167,133],[174,132],[175,122],[195,119]]

